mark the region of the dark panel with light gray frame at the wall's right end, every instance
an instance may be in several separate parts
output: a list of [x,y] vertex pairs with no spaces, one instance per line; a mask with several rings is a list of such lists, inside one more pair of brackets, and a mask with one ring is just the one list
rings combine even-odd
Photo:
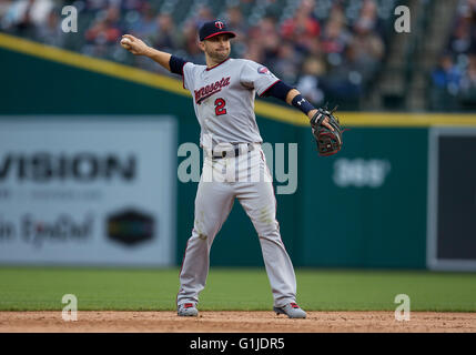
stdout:
[[434,126],[428,141],[427,266],[476,271],[476,129]]

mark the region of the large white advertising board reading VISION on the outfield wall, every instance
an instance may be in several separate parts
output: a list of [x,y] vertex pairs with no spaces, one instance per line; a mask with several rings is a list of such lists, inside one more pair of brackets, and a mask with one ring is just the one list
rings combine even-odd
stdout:
[[0,119],[0,263],[173,265],[170,116]]

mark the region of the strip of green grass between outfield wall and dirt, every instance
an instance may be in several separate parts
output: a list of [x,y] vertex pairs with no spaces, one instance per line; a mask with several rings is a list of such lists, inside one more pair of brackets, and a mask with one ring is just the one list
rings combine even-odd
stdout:
[[[394,311],[397,294],[412,311],[476,312],[475,273],[297,268],[297,302],[308,311]],[[179,270],[0,267],[0,311],[173,311]],[[264,268],[212,267],[200,310],[269,311]]]

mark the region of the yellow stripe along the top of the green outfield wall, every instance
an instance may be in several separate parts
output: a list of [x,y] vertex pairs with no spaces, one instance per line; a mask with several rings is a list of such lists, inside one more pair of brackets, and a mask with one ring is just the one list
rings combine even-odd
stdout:
[[[118,44],[119,45],[119,44]],[[191,97],[182,87],[182,80],[151,73],[112,61],[91,58],[55,47],[0,33],[0,48],[19,53],[59,62],[104,75],[110,75],[148,87]],[[255,102],[259,115],[294,124],[308,125],[307,118],[294,108],[286,108],[259,100]],[[431,125],[476,125],[476,114],[443,113],[394,113],[394,112],[338,112],[341,122],[348,126],[414,126]]]

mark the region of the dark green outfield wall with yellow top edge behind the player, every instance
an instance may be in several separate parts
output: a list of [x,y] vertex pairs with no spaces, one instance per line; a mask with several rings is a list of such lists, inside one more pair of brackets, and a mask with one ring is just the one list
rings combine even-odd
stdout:
[[[113,114],[134,120],[166,114],[178,119],[178,144],[198,143],[192,100],[180,80],[77,54],[72,60],[62,51],[44,49],[38,54],[34,48],[7,42],[1,45],[0,38],[0,115]],[[295,119],[304,120],[302,114],[271,102],[256,103],[264,141],[284,143],[285,152],[288,143],[297,143],[297,189],[276,194],[283,242],[294,264],[426,267],[427,136],[435,118],[402,121],[398,118],[407,116],[342,112],[350,128],[344,148],[320,158],[310,129]],[[286,122],[286,112],[294,112],[295,121]],[[275,189],[280,185],[284,184],[275,182]],[[180,265],[193,225],[198,183],[176,186]],[[211,263],[263,265],[257,235],[237,201],[215,240]]]

